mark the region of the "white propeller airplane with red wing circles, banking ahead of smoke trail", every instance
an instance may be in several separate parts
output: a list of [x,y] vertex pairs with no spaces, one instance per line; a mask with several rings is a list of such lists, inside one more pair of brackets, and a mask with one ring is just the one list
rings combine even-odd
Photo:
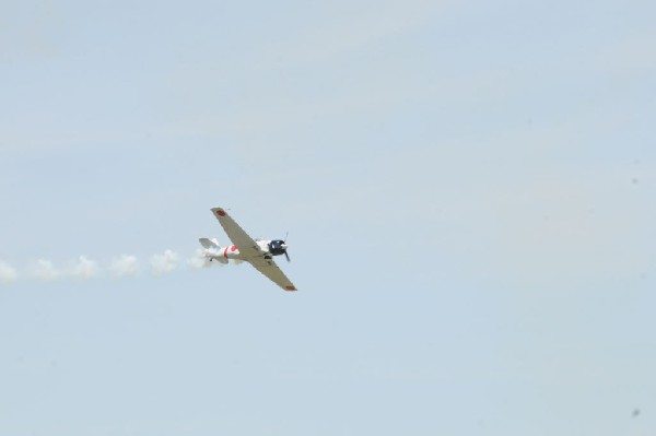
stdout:
[[244,260],[283,290],[296,291],[296,286],[294,286],[273,261],[273,256],[281,255],[285,256],[288,262],[290,261],[285,240],[253,239],[224,209],[212,208],[210,210],[216,220],[219,220],[219,224],[221,224],[233,245],[221,247],[214,238],[198,239],[204,248],[202,256],[206,259],[209,261],[216,260],[221,263],[227,263],[229,259]]

